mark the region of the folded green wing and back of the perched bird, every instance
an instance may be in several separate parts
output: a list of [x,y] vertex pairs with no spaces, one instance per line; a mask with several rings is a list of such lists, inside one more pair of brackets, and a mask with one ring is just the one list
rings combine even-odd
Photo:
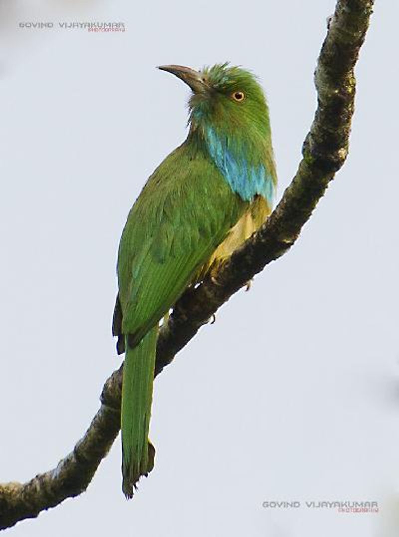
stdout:
[[118,256],[122,333],[138,342],[167,313],[247,204],[184,142],[133,205]]

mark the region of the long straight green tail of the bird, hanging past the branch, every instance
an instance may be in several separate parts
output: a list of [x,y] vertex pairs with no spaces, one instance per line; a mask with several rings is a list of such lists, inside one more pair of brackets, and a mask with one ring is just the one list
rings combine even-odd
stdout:
[[122,490],[126,498],[133,496],[140,476],[154,466],[155,450],[148,440],[151,417],[158,324],[131,349],[127,344],[122,384]]

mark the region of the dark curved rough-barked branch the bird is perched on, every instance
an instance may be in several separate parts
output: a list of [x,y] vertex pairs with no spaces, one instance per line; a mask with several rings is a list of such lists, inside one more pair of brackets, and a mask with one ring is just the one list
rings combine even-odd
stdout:
[[[344,164],[354,110],[353,69],[367,32],[374,0],[338,0],[317,62],[318,107],[303,144],[303,159],[276,209],[257,234],[233,253],[218,274],[188,289],[176,303],[158,340],[155,375],[195,336],[233,293],[268,263],[286,253]],[[101,407],[84,437],[58,466],[25,484],[0,485],[0,529],[37,517],[88,487],[119,432],[122,367],[105,382]]]

